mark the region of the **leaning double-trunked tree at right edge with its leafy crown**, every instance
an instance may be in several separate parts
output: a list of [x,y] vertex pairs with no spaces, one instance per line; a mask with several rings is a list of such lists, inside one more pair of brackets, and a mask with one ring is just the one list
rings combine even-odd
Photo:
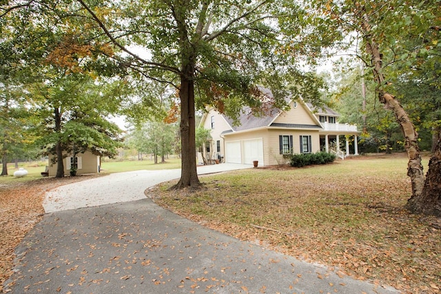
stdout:
[[[409,74],[418,70],[423,59],[439,56],[440,3],[439,0],[312,2],[314,10],[321,13],[320,21],[325,19],[331,31],[345,36],[346,39],[342,40],[349,41],[351,48],[369,67],[377,85],[380,103],[391,109],[400,124],[409,157],[407,174],[412,185],[412,196],[407,207],[411,211],[437,216],[441,216],[441,193],[438,188],[441,182],[441,153],[439,149],[435,150],[427,177],[424,178],[418,133],[396,95],[392,94],[393,81],[403,76],[390,70],[396,67],[389,65],[400,64]],[[419,40],[419,45],[409,49],[405,44],[410,38]],[[439,147],[441,145],[438,143]]]

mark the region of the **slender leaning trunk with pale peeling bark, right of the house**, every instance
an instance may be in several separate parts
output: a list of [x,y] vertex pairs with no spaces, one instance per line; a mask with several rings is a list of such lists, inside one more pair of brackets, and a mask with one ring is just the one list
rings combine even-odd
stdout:
[[411,123],[409,115],[400,105],[395,96],[384,90],[387,87],[382,74],[382,54],[369,34],[370,25],[365,20],[363,22],[365,29],[364,40],[366,43],[366,51],[371,56],[373,78],[378,85],[378,98],[387,109],[391,109],[395,114],[397,122],[400,124],[402,133],[404,134],[404,147],[407,151],[409,162],[407,164],[407,176],[411,178],[412,197],[419,198],[424,188],[424,174],[421,164],[420,148],[418,147],[418,134]]

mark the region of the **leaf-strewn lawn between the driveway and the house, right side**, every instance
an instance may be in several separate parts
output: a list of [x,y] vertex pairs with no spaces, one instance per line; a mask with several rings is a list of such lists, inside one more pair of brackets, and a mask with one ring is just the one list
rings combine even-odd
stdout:
[[155,202],[242,240],[336,267],[407,293],[440,293],[440,220],[403,209],[407,158],[349,159],[302,169],[201,177],[196,191],[150,191]]

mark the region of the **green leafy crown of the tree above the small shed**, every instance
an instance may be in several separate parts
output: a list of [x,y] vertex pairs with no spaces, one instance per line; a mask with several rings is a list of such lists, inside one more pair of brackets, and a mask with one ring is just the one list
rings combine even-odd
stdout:
[[[100,156],[115,156],[121,129],[107,120],[118,111],[118,92],[110,91],[114,87],[115,83],[99,83],[83,74],[60,77],[49,85],[34,83],[30,89],[41,97],[36,101],[39,124],[34,131],[43,154],[55,154],[60,142],[68,153],[75,147],[76,153],[89,149]],[[54,109],[60,116],[59,130],[54,128]]]

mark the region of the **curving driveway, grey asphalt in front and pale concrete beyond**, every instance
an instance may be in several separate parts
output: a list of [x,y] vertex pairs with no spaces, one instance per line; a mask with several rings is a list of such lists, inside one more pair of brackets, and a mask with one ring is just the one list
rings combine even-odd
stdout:
[[[199,174],[249,168],[215,165]],[[217,169],[217,170],[215,170]],[[132,171],[50,191],[17,247],[8,293],[399,293],[206,229],[145,189],[179,170]]]

